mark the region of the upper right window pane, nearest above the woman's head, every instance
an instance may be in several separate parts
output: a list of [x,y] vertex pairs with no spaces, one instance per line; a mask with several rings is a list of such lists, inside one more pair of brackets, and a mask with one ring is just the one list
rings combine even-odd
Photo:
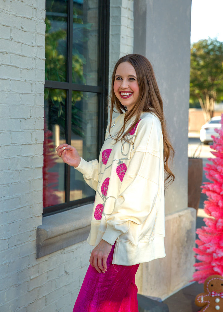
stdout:
[[98,84],[98,0],[73,2],[72,82]]

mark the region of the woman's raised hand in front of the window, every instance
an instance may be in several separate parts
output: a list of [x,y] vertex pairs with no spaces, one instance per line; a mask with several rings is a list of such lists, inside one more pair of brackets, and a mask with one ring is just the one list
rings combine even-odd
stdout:
[[57,156],[61,157],[64,163],[67,163],[72,167],[77,167],[81,161],[77,149],[67,143],[57,146],[56,152]]

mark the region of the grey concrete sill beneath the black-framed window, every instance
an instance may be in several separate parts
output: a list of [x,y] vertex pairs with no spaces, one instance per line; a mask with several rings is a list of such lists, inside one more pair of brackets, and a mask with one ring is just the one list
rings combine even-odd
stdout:
[[93,204],[42,218],[37,227],[37,258],[87,239]]

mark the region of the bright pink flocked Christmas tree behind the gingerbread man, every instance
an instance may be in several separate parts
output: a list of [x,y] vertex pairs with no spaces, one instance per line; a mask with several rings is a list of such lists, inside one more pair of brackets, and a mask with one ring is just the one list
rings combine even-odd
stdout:
[[202,193],[207,195],[204,211],[210,217],[204,218],[206,226],[197,229],[199,239],[196,240],[196,272],[193,280],[204,283],[213,274],[223,275],[223,114],[221,115],[221,129],[215,130],[219,136],[212,137],[211,152],[215,158],[209,158],[212,163],[206,164],[206,182],[202,186]]

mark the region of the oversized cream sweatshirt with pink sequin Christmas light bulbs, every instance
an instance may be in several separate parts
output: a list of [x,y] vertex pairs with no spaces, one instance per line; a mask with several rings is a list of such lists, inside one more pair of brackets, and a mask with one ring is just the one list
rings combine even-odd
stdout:
[[[121,129],[124,116],[113,120],[112,137]],[[116,242],[113,264],[134,265],[165,257],[161,123],[156,115],[142,113],[128,134],[133,144],[115,143],[108,127],[99,161],[81,158],[76,168],[96,191],[87,241],[92,246],[101,239],[111,245]]]

